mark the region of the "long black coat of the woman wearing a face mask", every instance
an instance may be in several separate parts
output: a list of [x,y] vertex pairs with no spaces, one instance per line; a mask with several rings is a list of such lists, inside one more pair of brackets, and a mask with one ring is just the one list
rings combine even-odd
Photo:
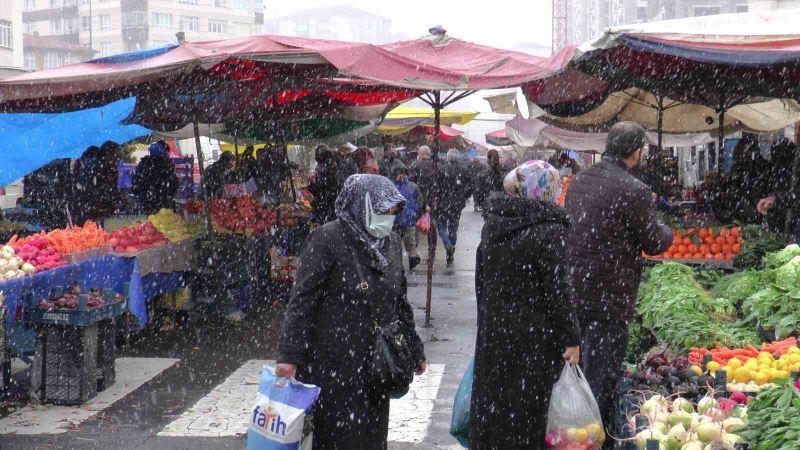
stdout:
[[[367,302],[381,323],[399,319],[417,364],[425,360],[406,298],[400,238],[392,234],[387,241],[383,273],[362,247],[338,220],[314,230],[283,322],[278,362],[297,365],[298,379],[322,388],[313,411],[315,450],[386,448],[389,399],[374,392],[368,376],[374,320]],[[356,290],[356,264],[369,284],[366,294]]]

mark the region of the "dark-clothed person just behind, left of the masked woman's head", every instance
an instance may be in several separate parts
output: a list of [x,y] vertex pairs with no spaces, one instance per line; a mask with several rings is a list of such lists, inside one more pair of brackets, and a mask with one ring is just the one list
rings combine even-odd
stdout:
[[314,196],[311,202],[311,221],[322,225],[336,220],[336,197],[339,196],[339,180],[336,177],[336,158],[327,145],[314,149],[317,167],[311,174],[308,190]]

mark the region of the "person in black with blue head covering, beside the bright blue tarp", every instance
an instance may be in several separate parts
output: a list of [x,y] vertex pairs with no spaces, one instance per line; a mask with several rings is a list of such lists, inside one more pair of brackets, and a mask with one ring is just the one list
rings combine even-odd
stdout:
[[178,192],[178,176],[169,158],[167,143],[151,144],[149,151],[136,167],[131,188],[145,214],[156,213],[161,208],[175,208],[175,193]]

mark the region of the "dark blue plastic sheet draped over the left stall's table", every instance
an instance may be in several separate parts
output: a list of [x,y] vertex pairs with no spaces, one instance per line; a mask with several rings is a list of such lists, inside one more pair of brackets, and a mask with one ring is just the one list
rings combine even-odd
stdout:
[[85,288],[105,288],[124,293],[129,283],[128,310],[147,323],[147,301],[155,296],[183,287],[183,274],[151,273],[142,277],[139,262],[133,257],[104,255],[80,261],[30,277],[16,278],[0,283],[8,314],[9,342],[18,353],[32,351],[33,330],[26,327],[24,310],[29,299],[38,301],[50,295],[56,286],[67,286],[75,281]]

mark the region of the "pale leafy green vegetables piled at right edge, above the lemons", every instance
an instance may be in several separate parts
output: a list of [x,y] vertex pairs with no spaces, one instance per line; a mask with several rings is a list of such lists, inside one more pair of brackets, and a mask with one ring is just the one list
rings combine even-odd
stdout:
[[800,331],[800,247],[790,245],[764,257],[762,289],[747,297],[742,312],[777,339]]

